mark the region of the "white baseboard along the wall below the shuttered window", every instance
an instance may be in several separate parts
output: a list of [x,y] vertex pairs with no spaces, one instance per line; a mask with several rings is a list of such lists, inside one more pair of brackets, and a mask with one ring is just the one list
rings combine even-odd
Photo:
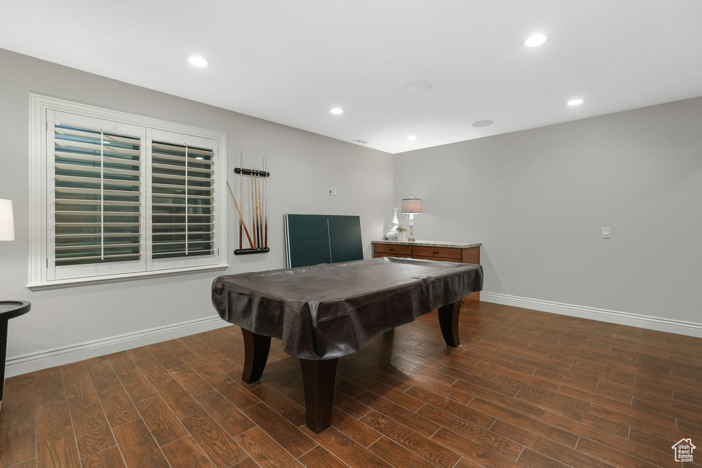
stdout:
[[152,345],[157,342],[173,340],[186,335],[194,335],[215,328],[227,326],[229,323],[223,321],[218,316],[206,319],[190,320],[186,322],[173,323],[149,330],[141,330],[133,333],[125,333],[100,340],[87,341],[77,345],[70,345],[46,351],[22,354],[8,358],[5,365],[5,377],[20,375],[34,370],[46,369],[62,364],[82,361],[96,356],[125,351],[145,345]]

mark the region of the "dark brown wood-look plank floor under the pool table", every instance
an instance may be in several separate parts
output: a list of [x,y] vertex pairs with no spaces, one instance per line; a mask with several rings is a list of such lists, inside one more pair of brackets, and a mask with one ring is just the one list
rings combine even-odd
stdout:
[[0,467],[702,466],[702,340],[479,302],[339,360],[332,427],[305,427],[273,340],[241,382],[230,326],[6,380]]

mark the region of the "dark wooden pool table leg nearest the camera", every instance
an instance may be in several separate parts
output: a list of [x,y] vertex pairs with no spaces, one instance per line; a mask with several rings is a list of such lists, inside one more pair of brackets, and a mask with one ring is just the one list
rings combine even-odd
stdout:
[[331,403],[334,398],[334,379],[338,359],[300,359],[305,387],[305,415],[307,427],[319,434],[331,425]]

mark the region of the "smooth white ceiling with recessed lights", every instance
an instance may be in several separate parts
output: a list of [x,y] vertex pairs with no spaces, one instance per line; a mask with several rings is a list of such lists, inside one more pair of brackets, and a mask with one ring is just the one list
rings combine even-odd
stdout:
[[0,0],[0,48],[391,153],[702,95],[700,0]]

